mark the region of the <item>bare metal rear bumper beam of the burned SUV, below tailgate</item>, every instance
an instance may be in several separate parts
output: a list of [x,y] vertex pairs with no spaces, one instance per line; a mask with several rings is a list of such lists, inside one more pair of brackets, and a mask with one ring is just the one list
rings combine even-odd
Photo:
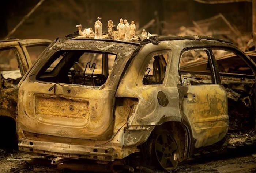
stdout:
[[19,139],[18,146],[20,151],[54,157],[84,158],[104,161],[113,161],[115,159],[114,148],[34,141],[27,138]]

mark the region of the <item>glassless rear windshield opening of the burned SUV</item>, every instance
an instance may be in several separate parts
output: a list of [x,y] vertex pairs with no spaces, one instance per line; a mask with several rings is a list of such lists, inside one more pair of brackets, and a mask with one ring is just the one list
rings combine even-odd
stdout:
[[116,55],[69,50],[56,52],[42,67],[37,80],[101,86],[111,72]]

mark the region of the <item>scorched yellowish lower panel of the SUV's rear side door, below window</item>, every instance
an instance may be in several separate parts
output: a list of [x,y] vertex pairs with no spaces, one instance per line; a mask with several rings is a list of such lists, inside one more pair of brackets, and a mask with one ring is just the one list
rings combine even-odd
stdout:
[[227,95],[221,85],[178,87],[182,114],[190,123],[195,148],[212,145],[228,131]]

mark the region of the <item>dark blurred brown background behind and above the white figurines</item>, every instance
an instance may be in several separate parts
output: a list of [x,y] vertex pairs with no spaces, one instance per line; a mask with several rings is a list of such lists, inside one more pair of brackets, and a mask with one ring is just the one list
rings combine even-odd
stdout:
[[[0,39],[3,39],[39,0],[1,1]],[[135,21],[142,27],[155,17],[161,23],[161,34],[175,35],[179,27],[189,27],[198,21],[218,15],[223,16],[241,33],[252,31],[252,3],[203,4],[193,0],[45,0],[12,36],[15,38],[55,39],[77,31],[75,25],[92,27],[97,17],[102,17],[103,32],[107,31],[107,21],[115,25],[120,17]],[[156,33],[157,27],[147,29]]]

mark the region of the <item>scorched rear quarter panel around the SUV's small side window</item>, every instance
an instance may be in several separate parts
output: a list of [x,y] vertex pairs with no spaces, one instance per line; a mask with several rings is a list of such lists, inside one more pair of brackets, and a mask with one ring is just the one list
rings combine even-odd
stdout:
[[[146,44],[129,65],[116,97],[138,98],[138,105],[128,119],[129,126],[160,125],[167,121],[181,121],[179,111],[179,95],[177,89],[177,58],[176,50],[170,50],[168,42],[158,45]],[[147,59],[151,54],[166,53],[169,55],[163,84],[142,83],[148,67]],[[164,93],[167,104],[161,106],[158,93]]]

